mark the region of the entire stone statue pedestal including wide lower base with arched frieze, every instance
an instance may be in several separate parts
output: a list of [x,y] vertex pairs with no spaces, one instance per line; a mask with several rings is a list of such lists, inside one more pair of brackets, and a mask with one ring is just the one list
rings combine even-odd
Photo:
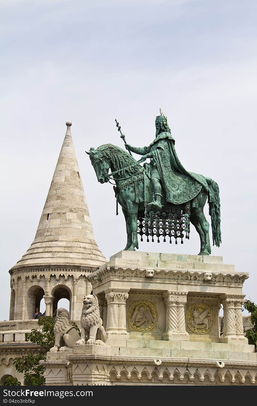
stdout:
[[88,277],[107,313],[106,346],[48,353],[46,384],[256,384],[257,353],[242,327],[247,278],[221,257],[117,253]]

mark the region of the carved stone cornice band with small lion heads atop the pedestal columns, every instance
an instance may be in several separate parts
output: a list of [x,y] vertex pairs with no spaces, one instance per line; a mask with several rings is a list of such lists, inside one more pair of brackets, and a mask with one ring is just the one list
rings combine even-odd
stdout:
[[[206,272],[197,270],[167,270],[154,268],[151,280],[167,279],[175,281],[200,281],[212,285],[216,282],[233,283],[242,285],[249,274],[243,273],[222,273],[222,272]],[[106,281],[110,277],[127,277],[145,279],[149,268],[122,268],[116,266],[107,266],[101,270],[91,273],[88,280],[92,286],[96,286],[99,282]]]

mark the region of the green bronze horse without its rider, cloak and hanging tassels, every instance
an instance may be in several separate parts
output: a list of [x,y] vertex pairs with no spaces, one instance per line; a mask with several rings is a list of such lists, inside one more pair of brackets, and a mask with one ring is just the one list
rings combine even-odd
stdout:
[[[93,168],[97,175],[97,180],[100,183],[108,182],[110,175],[114,179],[117,193],[117,199],[122,207],[123,214],[126,220],[127,229],[127,245],[125,251],[135,251],[138,248],[138,213],[139,205],[142,203],[136,203],[136,193],[134,188],[133,179],[140,177],[145,169],[126,151],[112,144],[104,144],[98,147],[96,150],[91,148],[90,151],[86,151],[89,154]],[[109,173],[111,170],[111,173]],[[132,179],[133,177],[133,179]],[[138,178],[139,179],[139,178]],[[186,204],[190,207],[190,222],[197,230],[200,237],[201,250],[198,255],[211,254],[211,245],[209,242],[209,222],[206,220],[203,207],[208,197],[209,203],[209,215],[212,221],[212,239],[213,245],[220,246],[221,232],[220,232],[220,198],[218,184],[210,178],[205,177],[209,191],[206,192],[203,188],[197,195],[197,201],[199,207],[192,207],[192,201],[188,201]],[[126,181],[126,187],[122,188],[121,185]],[[140,195],[144,199],[144,178],[138,182],[138,188]],[[119,191],[119,192],[117,192]],[[164,194],[163,194],[164,195]],[[167,203],[166,203],[167,204]],[[182,205],[173,205],[181,209]],[[141,208],[142,210],[142,208]]]

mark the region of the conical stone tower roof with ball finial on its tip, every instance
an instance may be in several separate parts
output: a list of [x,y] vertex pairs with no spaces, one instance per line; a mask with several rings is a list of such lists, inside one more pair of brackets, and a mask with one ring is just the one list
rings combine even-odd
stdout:
[[93,235],[89,210],[71,138],[71,121],[54,171],[35,240],[17,268],[83,266],[98,268],[106,262]]

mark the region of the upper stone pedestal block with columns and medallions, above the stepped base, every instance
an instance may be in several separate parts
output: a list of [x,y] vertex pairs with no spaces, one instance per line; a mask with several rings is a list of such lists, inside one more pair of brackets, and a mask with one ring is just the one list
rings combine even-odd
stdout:
[[108,338],[226,343],[247,343],[241,312],[247,278],[222,257],[132,251],[113,255],[88,277],[93,293],[107,301]]

